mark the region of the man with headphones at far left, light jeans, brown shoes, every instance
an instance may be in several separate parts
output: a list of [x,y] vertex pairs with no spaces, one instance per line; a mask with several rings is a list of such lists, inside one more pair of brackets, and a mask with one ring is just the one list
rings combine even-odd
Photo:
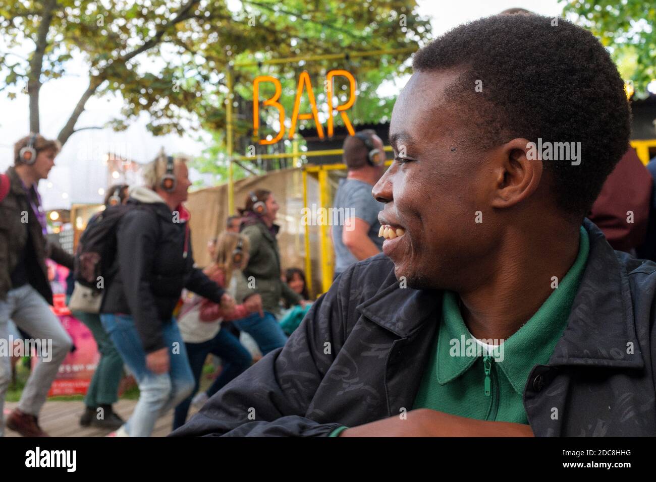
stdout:
[[[39,134],[14,144],[14,167],[7,170],[9,190],[0,203],[0,340],[9,343],[7,321],[12,319],[35,340],[52,340],[52,353],[43,346],[41,361],[31,372],[18,408],[7,417],[7,427],[24,437],[47,437],[39,426],[39,412],[59,365],[72,340],[51,311],[52,291],[46,258],[73,268],[73,256],[46,239],[45,212],[37,186],[48,177],[60,151],[56,140]],[[3,404],[11,379],[10,357],[0,355],[0,435]]]

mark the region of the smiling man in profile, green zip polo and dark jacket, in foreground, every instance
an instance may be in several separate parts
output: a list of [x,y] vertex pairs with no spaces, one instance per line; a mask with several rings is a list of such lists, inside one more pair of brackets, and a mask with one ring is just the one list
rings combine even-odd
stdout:
[[653,435],[656,265],[584,220],[628,147],[609,54],[500,15],[413,67],[373,189],[397,237],[175,434]]

